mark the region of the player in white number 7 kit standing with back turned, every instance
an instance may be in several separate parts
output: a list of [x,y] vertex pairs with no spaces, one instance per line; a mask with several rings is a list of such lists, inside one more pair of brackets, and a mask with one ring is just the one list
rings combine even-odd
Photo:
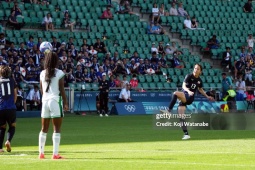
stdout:
[[[40,74],[42,93],[42,129],[39,134],[39,158],[44,159],[44,147],[50,120],[53,123],[53,155],[52,159],[62,159],[59,155],[60,129],[64,111],[68,110],[68,103],[64,90],[64,72],[57,69],[58,56],[54,52],[45,53],[44,70]],[[63,102],[63,105],[62,105]]]

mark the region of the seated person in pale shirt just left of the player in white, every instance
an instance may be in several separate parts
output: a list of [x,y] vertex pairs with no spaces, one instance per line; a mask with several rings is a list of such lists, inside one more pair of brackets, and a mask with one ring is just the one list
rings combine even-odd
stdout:
[[26,99],[27,103],[30,104],[30,110],[33,110],[36,107],[37,110],[41,109],[41,97],[37,85],[34,85],[34,88],[29,91]]

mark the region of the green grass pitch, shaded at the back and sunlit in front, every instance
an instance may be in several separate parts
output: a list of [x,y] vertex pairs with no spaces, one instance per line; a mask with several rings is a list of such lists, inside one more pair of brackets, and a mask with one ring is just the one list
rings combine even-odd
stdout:
[[[159,130],[153,116],[74,116],[64,118],[60,154],[51,160],[52,131],[46,159],[38,159],[40,118],[20,118],[12,152],[0,154],[1,169],[255,169],[254,131]],[[52,128],[51,128],[52,129]]]

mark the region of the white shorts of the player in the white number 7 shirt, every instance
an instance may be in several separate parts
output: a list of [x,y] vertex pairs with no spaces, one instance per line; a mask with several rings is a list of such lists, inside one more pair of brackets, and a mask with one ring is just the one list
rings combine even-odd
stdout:
[[54,99],[42,102],[42,118],[59,118],[64,117],[62,100],[57,102]]

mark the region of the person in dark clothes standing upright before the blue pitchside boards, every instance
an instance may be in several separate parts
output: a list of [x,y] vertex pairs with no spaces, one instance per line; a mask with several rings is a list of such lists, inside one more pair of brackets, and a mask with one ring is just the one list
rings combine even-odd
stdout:
[[99,81],[99,101],[100,101],[100,117],[108,116],[108,93],[109,93],[110,83],[106,80],[106,73],[102,74],[102,80]]

